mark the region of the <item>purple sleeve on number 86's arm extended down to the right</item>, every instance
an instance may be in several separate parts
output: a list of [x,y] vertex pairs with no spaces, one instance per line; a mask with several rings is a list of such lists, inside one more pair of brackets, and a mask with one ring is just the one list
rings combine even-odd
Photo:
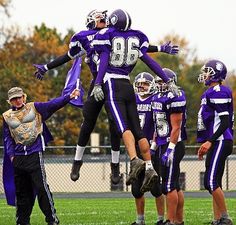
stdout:
[[140,59],[165,83],[169,81],[169,78],[165,75],[161,66],[156,61],[154,61],[150,56],[148,56],[148,54],[143,54]]

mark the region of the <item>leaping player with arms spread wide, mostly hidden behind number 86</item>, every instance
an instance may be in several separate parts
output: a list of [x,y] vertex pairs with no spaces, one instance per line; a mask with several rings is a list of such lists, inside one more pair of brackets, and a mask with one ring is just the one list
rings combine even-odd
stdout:
[[[80,57],[83,54],[86,54],[85,61],[88,64],[91,73],[93,75],[93,81],[91,82],[89,91],[88,91],[88,97],[86,102],[83,106],[83,117],[84,121],[81,125],[80,134],[78,143],[76,146],[76,152],[75,157],[72,165],[72,170],[70,177],[73,181],[76,181],[79,179],[80,176],[80,168],[82,166],[82,157],[84,154],[85,146],[87,145],[90,134],[92,133],[97,117],[102,109],[102,106],[104,104],[104,101],[95,101],[94,96],[91,95],[91,91],[94,87],[94,81],[97,76],[97,66],[99,62],[98,55],[95,54],[93,48],[91,47],[91,41],[94,38],[94,35],[106,27],[107,25],[107,11],[99,11],[99,10],[92,10],[87,18],[86,18],[86,27],[87,30],[80,31],[73,35],[73,37],[70,40],[69,44],[69,50],[67,53],[65,53],[62,56],[59,56],[58,58],[54,59],[53,61],[44,64],[34,64],[34,66],[37,68],[37,71],[35,72],[35,76],[42,80],[45,73],[48,70],[51,70],[53,68],[56,68],[60,65],[63,65],[64,63],[75,59],[76,57]],[[170,42],[167,42],[161,46],[149,46],[150,52],[165,52],[168,54],[175,55],[178,53],[178,46],[170,45]],[[96,97],[96,96],[95,96]],[[109,120],[110,124],[110,135],[111,135],[111,170],[112,170],[112,176],[111,180],[114,184],[119,183],[120,181],[120,167],[119,167],[119,150],[120,150],[120,137],[117,135],[115,129],[114,129],[114,123]]]

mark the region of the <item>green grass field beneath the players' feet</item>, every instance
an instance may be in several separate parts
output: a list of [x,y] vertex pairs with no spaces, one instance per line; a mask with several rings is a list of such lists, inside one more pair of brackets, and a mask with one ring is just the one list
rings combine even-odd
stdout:
[[[61,225],[129,225],[135,221],[135,205],[132,198],[68,198],[55,199]],[[229,214],[236,221],[236,199],[227,199]],[[210,198],[185,199],[185,225],[209,224],[212,219]],[[156,220],[154,199],[146,199],[146,225]],[[31,225],[45,225],[38,204],[34,206]],[[0,199],[0,225],[15,225],[15,208]]]

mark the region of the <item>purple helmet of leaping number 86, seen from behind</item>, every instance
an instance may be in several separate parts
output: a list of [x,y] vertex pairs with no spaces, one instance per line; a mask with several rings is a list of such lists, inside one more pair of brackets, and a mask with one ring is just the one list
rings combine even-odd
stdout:
[[131,26],[131,22],[130,15],[122,9],[115,10],[109,16],[109,26],[115,27],[118,30],[128,30]]

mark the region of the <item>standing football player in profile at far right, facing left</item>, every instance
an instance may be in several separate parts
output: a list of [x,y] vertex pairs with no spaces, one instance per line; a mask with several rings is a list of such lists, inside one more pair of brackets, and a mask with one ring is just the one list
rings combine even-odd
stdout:
[[214,221],[212,224],[232,225],[229,218],[224,193],[222,176],[225,161],[233,150],[233,97],[232,91],[223,81],[227,68],[219,60],[209,60],[203,67],[198,81],[208,89],[201,97],[198,112],[197,141],[202,143],[198,157],[206,156],[204,185],[212,195]]

